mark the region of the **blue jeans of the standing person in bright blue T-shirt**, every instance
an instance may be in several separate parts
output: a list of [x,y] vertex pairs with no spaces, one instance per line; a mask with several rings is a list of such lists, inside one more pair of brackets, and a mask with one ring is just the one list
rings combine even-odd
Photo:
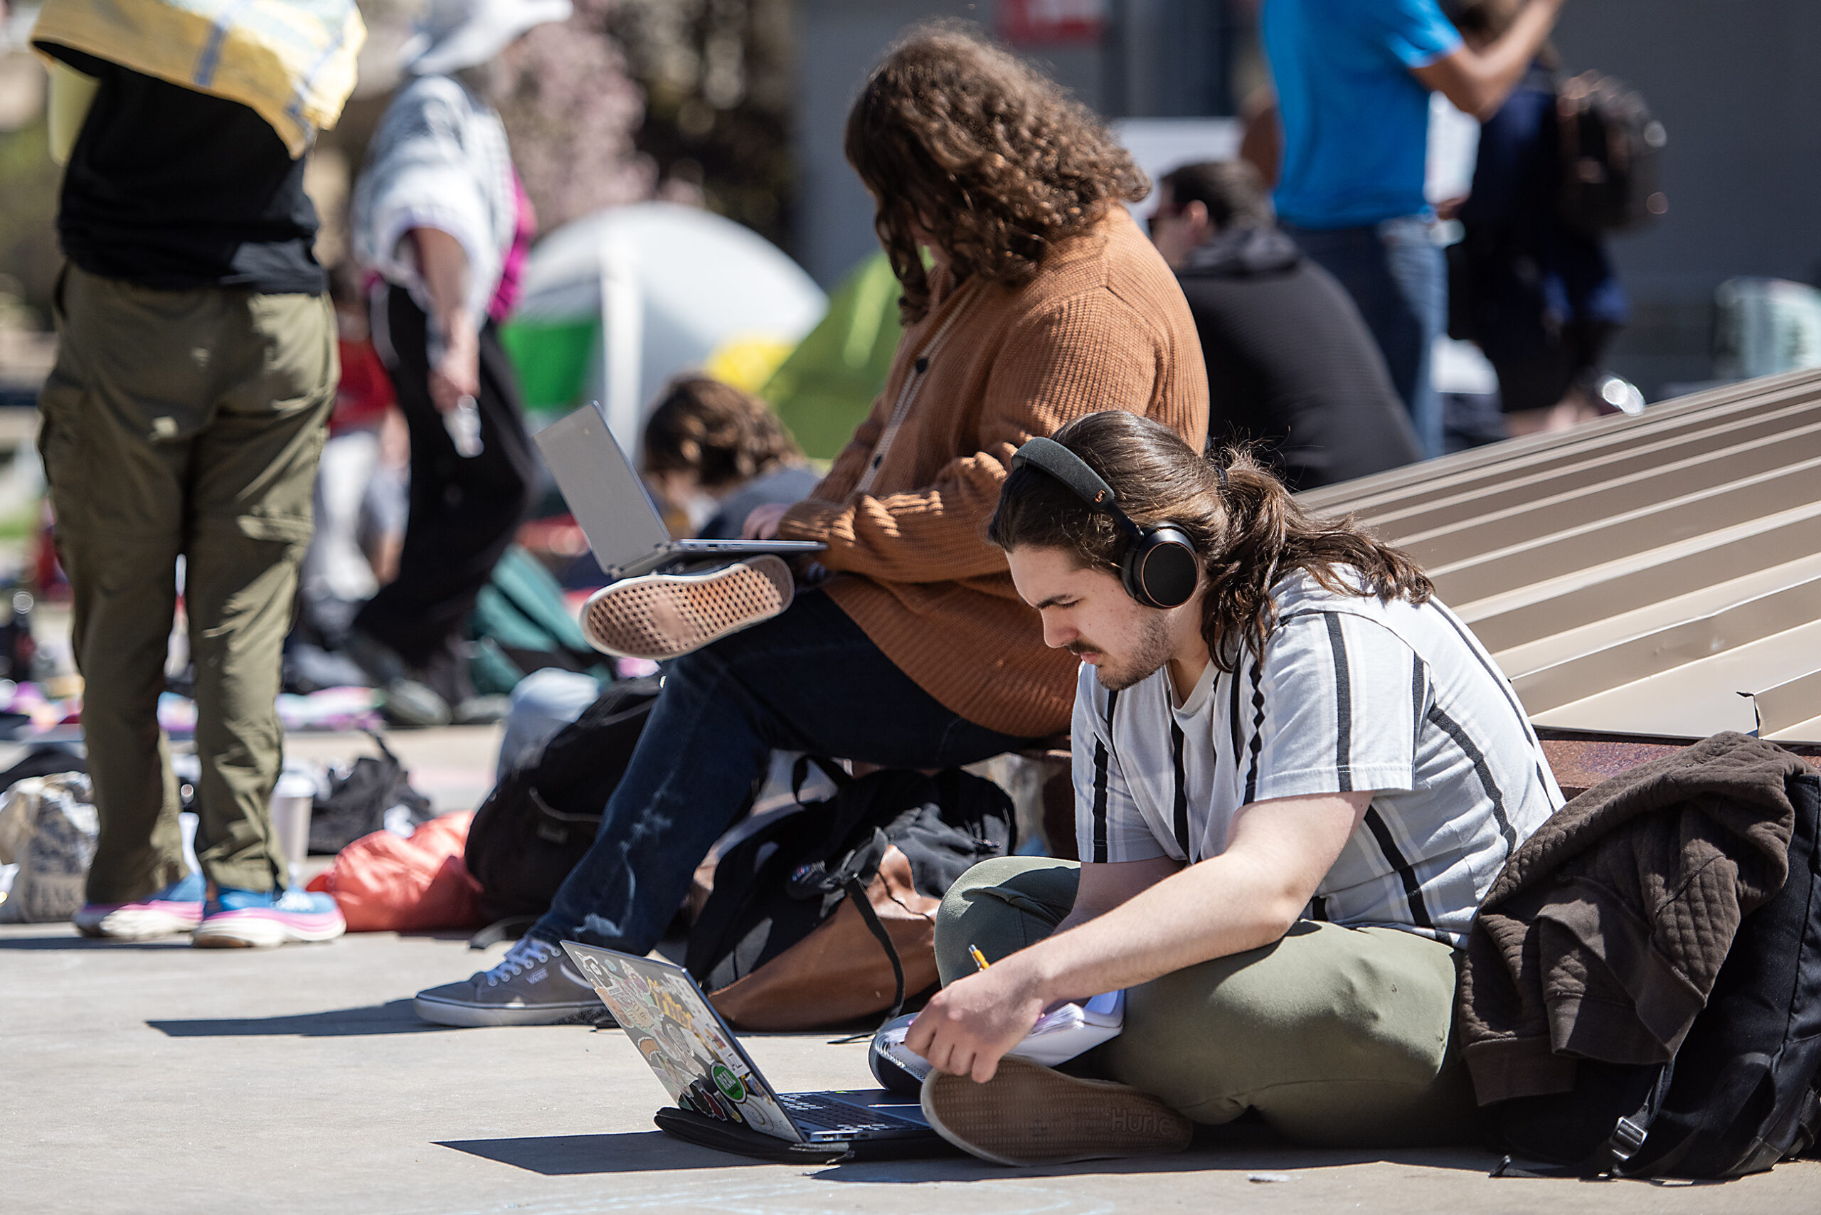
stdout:
[[1409,410],[1422,455],[1442,454],[1442,408],[1429,384],[1429,352],[1448,324],[1448,262],[1424,215],[1399,215],[1368,228],[1284,231],[1340,281]]

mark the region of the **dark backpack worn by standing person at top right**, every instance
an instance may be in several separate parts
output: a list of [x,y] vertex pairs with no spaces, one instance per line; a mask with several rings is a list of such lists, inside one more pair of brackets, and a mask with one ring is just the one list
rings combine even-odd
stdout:
[[1584,71],[1555,86],[1561,184],[1557,219],[1584,237],[1628,231],[1670,209],[1663,193],[1668,137],[1644,98]]

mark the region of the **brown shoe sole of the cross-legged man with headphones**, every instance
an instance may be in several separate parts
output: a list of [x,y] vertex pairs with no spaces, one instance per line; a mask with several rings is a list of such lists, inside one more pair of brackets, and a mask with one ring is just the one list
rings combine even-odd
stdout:
[[1078,1080],[1002,1058],[985,1084],[932,1071],[923,1117],[951,1144],[996,1164],[1065,1164],[1182,1151],[1193,1124],[1158,1098],[1111,1080]]

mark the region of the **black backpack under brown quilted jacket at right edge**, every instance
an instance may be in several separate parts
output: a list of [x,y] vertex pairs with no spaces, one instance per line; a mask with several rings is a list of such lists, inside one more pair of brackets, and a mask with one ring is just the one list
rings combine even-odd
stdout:
[[[1488,1108],[1510,1149],[1573,1175],[1739,1177],[1821,1133],[1821,778],[1786,783],[1790,876],[1748,914],[1666,1064],[1579,1060],[1575,1087]],[[1508,1169],[1511,1173],[1522,1169]]]

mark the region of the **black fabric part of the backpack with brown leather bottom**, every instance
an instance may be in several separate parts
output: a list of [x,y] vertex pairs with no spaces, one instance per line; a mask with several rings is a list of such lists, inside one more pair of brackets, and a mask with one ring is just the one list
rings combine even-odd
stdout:
[[[807,761],[798,761],[799,787]],[[717,993],[754,975],[852,900],[890,960],[896,993],[889,1016],[896,1016],[905,996],[918,993],[905,991],[900,951],[867,898],[885,851],[896,845],[910,862],[916,893],[940,900],[971,865],[1012,851],[1012,801],[992,781],[960,769],[936,776],[887,769],[854,778],[832,760],[816,765],[836,781],[836,794],[767,823],[719,858],[714,891],[688,936],[685,965],[705,991]],[[929,962],[912,973],[932,980]]]

